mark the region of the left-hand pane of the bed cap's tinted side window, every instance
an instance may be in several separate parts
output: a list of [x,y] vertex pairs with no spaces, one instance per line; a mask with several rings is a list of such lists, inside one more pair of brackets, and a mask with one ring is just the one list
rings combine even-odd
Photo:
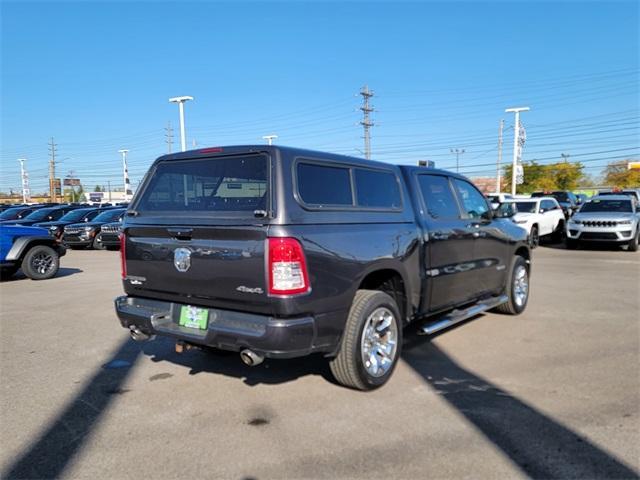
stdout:
[[351,176],[349,169],[298,163],[296,169],[298,194],[304,203],[312,206],[351,206]]

